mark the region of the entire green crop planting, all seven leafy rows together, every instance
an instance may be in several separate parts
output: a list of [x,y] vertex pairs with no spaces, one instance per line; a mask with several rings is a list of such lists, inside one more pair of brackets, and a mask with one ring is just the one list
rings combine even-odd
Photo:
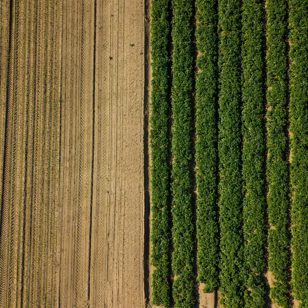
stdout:
[[[151,8],[150,117],[152,303],[170,306],[168,251],[168,39],[167,0]],[[308,2],[290,0],[290,121],[292,183],[292,285],[308,306]],[[192,307],[194,294],[191,205],[192,1],[172,0],[172,297]],[[287,5],[266,3],[266,179],[271,298],[287,306],[288,171],[286,153]],[[218,18],[217,18],[218,15]],[[264,274],[263,11],[260,1],[196,1],[197,265],[204,292],[218,287],[225,307],[262,307]],[[217,28],[218,26],[218,28]],[[218,37],[219,35],[219,43]],[[218,46],[218,53],[217,53]],[[218,57],[218,74],[217,74]],[[241,71],[242,70],[242,71]],[[218,78],[219,75],[219,78]],[[217,84],[218,78],[218,84]],[[242,84],[242,88],[241,88]],[[219,90],[216,106],[217,89]],[[240,105],[242,105],[242,110]],[[216,110],[218,108],[218,123]],[[242,113],[241,113],[242,111]],[[218,125],[218,139],[217,139]],[[241,139],[242,138],[242,139]],[[241,142],[243,148],[241,152]],[[218,153],[217,153],[218,142]],[[217,221],[219,156],[219,224]],[[244,242],[243,242],[244,239]],[[220,255],[218,256],[218,245]],[[219,268],[218,270],[218,263]],[[218,282],[218,272],[219,280]]]

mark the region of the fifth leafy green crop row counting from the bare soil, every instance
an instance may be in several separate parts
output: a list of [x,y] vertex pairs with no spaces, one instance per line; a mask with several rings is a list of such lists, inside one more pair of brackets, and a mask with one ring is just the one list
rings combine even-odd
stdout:
[[260,0],[242,6],[242,176],[245,307],[263,308],[265,270],[263,23]]

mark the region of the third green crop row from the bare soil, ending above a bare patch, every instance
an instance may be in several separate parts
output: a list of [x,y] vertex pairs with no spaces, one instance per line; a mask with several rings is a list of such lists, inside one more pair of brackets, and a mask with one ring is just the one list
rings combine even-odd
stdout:
[[217,1],[196,1],[196,182],[198,280],[204,292],[218,286]]

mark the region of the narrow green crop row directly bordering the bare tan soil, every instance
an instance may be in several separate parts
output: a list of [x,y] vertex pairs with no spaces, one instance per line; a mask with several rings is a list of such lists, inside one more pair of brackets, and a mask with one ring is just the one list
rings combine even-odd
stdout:
[[169,170],[168,158],[168,21],[169,0],[151,3],[152,91],[150,102],[152,232],[151,262],[152,302],[170,305],[168,281],[168,250],[170,223],[168,215]]

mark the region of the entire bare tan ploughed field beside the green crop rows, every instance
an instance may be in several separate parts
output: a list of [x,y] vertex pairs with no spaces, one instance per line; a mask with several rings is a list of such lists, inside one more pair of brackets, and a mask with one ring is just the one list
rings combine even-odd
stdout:
[[144,2],[0,17],[0,307],[144,307]]

